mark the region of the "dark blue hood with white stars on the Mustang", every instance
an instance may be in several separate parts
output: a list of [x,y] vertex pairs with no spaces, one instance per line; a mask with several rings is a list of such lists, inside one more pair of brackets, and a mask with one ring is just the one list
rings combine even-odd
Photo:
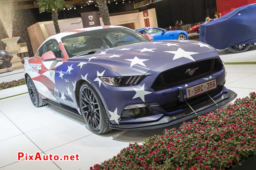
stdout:
[[[110,69],[121,76],[134,76],[144,75],[149,70],[162,65],[167,65],[167,67],[165,68],[171,69],[179,65],[194,62],[193,60],[198,61],[210,57],[219,56],[217,50],[213,47],[200,47],[198,43],[199,41],[191,40],[147,41],[124,45],[102,51],[100,50],[92,55],[73,57],[69,59],[69,61],[93,63]],[[176,46],[170,44],[176,44]],[[147,51],[147,49],[151,49],[152,51]],[[180,58],[175,59],[175,54],[173,53],[177,53],[178,55],[180,55],[182,53],[182,50],[184,50],[185,52],[192,52],[192,58],[190,57],[189,59],[181,56]],[[172,52],[169,53],[165,51]],[[209,54],[206,55],[206,53]],[[134,60],[133,62],[132,59]],[[159,71],[161,72],[164,70]]]

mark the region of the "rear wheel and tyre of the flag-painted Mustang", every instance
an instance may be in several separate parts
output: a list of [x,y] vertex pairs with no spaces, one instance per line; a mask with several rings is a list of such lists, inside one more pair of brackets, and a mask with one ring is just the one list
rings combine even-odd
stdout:
[[28,94],[31,102],[35,107],[41,107],[47,105],[45,101],[42,100],[41,96],[39,95],[35,84],[33,83],[32,79],[27,76],[27,87],[28,87]]

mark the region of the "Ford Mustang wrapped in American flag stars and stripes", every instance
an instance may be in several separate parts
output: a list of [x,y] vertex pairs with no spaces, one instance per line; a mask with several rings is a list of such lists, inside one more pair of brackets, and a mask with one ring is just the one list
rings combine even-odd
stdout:
[[122,26],[53,35],[24,70],[35,107],[50,103],[82,116],[94,133],[170,126],[236,97],[210,45],[150,41]]

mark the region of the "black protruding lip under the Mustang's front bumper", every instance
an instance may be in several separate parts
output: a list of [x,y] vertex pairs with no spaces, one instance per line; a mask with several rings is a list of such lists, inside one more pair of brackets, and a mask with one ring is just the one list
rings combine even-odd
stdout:
[[[162,115],[157,121],[155,122],[148,122],[148,123],[140,123],[140,124],[120,124],[120,125],[111,125],[112,129],[157,129],[163,128],[167,126],[171,126],[192,118],[195,118],[199,115],[204,115],[209,113],[212,110],[215,110],[230,101],[236,98],[237,94],[231,90],[228,90],[226,87],[223,88],[222,95],[218,96],[214,99],[214,101],[218,104],[218,106],[212,101],[209,100],[207,103],[200,106],[200,108],[196,109],[196,114],[191,110],[190,113],[184,114],[179,113],[177,115]],[[193,106],[191,106],[193,108]],[[198,106],[197,106],[198,107]]]

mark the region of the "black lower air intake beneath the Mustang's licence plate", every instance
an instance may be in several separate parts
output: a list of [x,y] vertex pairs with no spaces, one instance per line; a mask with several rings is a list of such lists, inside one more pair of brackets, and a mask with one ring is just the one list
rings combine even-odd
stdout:
[[[220,94],[223,91],[223,85],[222,86],[218,86],[218,89],[213,90],[211,92],[208,92],[208,94],[213,98],[214,96]],[[200,108],[201,105],[203,105],[205,102],[212,100],[210,99],[210,97],[205,93],[202,95],[199,95],[193,99],[188,100],[187,102],[189,103],[190,106],[193,107],[194,110]],[[181,102],[180,100],[176,100],[173,102],[169,102],[163,105],[160,105],[165,112],[174,112],[176,110],[183,110],[183,112],[188,111],[191,112],[190,107],[188,106],[188,104],[184,101]]]

